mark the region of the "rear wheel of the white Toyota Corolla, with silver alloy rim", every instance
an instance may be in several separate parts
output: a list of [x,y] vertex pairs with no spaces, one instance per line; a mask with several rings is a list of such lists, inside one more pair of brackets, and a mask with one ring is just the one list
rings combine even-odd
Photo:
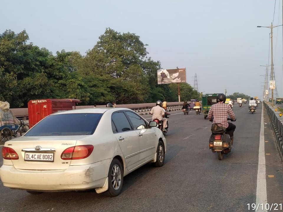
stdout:
[[123,187],[123,180],[124,170],[122,168],[121,162],[117,158],[114,158],[110,164],[108,171],[108,190],[106,192],[107,196],[118,196],[121,193]]

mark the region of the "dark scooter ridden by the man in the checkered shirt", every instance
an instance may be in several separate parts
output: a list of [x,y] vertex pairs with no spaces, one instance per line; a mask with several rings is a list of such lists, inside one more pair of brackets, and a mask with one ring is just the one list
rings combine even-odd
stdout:
[[[227,118],[227,120],[232,121],[231,118]],[[223,154],[231,152],[233,137],[230,138],[230,136],[226,134],[226,129],[220,123],[212,124],[211,132],[212,134],[208,146],[213,153],[217,152],[218,160],[222,160]]]

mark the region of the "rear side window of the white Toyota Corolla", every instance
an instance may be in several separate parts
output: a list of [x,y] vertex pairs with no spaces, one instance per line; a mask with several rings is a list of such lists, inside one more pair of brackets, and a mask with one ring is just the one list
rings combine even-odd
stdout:
[[[115,132],[125,132],[132,130],[132,127],[123,112],[116,112],[112,115],[112,131]],[[113,128],[113,126],[115,128]]]

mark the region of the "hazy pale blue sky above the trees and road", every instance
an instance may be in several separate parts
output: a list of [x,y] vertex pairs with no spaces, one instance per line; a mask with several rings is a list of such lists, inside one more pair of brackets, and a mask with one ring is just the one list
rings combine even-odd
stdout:
[[[203,1],[0,1],[0,33],[26,29],[29,42],[56,51],[92,49],[107,27],[140,36],[161,67],[186,68],[187,82],[204,93],[263,93],[269,61],[268,28],[275,0]],[[279,6],[280,4],[280,6]],[[278,24],[279,23],[279,24]],[[274,25],[282,24],[282,0],[275,5]],[[283,96],[282,26],[273,29],[276,86]],[[271,53],[270,53],[271,54]]]

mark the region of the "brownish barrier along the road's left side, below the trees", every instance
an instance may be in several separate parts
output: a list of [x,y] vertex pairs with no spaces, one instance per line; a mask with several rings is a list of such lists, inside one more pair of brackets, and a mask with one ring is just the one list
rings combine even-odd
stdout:
[[[184,102],[167,102],[167,107],[169,109],[174,107],[182,107]],[[121,108],[129,108],[134,110],[135,112],[145,112],[149,111],[152,107],[154,107],[156,103],[142,103],[142,104],[125,104],[125,105],[117,105],[117,107]],[[97,105],[96,107],[106,107],[106,105]],[[83,109],[83,108],[93,108],[93,105],[85,105],[85,106],[76,106],[76,109]],[[74,109],[74,108],[73,108]],[[11,111],[19,120],[28,120],[29,113],[27,108],[11,108]]]

